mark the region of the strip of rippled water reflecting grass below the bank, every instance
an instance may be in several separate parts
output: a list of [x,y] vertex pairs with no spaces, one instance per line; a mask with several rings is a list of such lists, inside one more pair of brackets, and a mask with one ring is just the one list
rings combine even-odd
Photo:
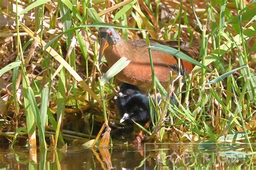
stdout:
[[[66,151],[2,148],[0,169],[253,169],[255,154],[238,144],[114,145],[110,149],[69,146]],[[256,145],[253,146],[256,148]]]

